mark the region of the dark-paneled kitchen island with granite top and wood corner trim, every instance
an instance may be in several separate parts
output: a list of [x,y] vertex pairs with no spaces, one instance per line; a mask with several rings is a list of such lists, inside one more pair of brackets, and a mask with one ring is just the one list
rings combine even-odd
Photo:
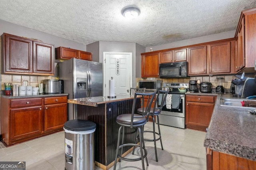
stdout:
[[[95,164],[107,170],[114,165],[118,129],[116,117],[121,114],[131,113],[134,96],[116,95],[116,98],[98,96],[91,98],[69,99],[68,103],[77,104],[77,119],[90,120],[96,123],[95,131]],[[138,99],[140,99],[138,97]],[[140,100],[136,100],[136,109],[140,107]],[[126,139],[133,143],[136,129],[126,128]],[[128,154],[130,148],[124,148]]]

